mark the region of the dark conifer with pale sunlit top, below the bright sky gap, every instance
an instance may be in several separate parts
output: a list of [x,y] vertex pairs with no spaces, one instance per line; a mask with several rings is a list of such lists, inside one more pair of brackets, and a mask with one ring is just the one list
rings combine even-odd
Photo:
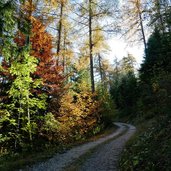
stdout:
[[128,54],[115,68],[110,94],[117,109],[119,109],[118,117],[129,117],[135,114],[138,99],[138,79],[134,73],[134,63],[134,57]]

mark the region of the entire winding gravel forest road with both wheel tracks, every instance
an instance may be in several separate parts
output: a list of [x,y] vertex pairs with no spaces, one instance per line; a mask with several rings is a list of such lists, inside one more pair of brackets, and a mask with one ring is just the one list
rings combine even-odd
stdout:
[[[28,171],[115,171],[120,153],[127,140],[135,133],[136,128],[125,123],[114,123],[118,129],[96,141],[74,147],[63,154],[56,154],[46,162],[27,168]],[[84,155],[93,151],[85,160]],[[79,159],[85,160],[82,166],[76,167]]]

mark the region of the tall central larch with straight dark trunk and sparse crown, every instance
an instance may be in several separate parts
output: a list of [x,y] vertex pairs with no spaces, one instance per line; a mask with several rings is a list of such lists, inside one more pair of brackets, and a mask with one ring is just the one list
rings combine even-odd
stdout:
[[76,3],[76,7],[77,16],[80,18],[78,23],[81,25],[82,35],[85,35],[85,33],[88,33],[89,35],[87,45],[89,49],[88,56],[90,61],[91,91],[95,92],[94,49],[98,39],[98,44],[103,42],[100,41],[102,33],[99,34],[100,37],[97,38],[97,32],[101,31],[104,33],[109,26],[113,27],[113,22],[107,19],[110,16],[110,11],[108,8],[109,6],[105,1],[85,0],[81,3]]

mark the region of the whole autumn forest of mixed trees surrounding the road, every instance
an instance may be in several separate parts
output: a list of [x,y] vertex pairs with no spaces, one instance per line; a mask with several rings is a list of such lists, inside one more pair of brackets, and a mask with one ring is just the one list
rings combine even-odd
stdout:
[[[110,63],[107,40],[144,45]],[[1,0],[1,161],[130,122],[121,170],[171,170],[169,0]],[[160,147],[160,150],[158,148]]]

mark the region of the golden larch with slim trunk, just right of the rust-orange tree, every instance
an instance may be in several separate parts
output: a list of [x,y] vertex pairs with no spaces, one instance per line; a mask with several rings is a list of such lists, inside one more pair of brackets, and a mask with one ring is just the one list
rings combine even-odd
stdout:
[[[54,45],[56,46],[56,65],[63,65],[63,73],[67,74],[67,63],[69,64],[70,58],[72,58],[72,48],[71,48],[71,27],[72,23],[69,20],[71,15],[71,4],[68,0],[56,1],[53,6],[53,1],[50,3],[51,13],[49,16],[52,18],[53,23],[49,25],[53,34],[56,33],[54,37]],[[53,11],[53,13],[52,13]]]

